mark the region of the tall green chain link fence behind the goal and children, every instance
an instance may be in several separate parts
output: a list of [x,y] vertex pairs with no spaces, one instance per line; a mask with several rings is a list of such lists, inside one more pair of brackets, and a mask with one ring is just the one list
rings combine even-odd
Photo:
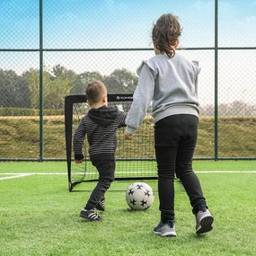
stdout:
[[255,13],[230,2],[1,1],[0,160],[66,159],[65,96],[92,79],[133,93],[163,13],[180,17],[179,50],[201,66],[195,158],[256,159]]

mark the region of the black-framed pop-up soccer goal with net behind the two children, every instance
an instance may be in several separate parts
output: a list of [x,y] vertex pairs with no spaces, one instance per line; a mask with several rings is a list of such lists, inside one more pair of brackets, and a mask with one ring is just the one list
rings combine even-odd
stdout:
[[[128,112],[132,94],[108,94],[108,104]],[[86,95],[69,95],[65,98],[66,162],[69,190],[84,181],[97,181],[99,176],[90,161],[88,142],[84,140],[84,162],[75,163],[73,136],[81,119],[89,111]],[[125,140],[125,128],[118,129],[115,180],[153,180],[157,177],[154,157],[154,125],[150,115],[137,129],[133,140]]]

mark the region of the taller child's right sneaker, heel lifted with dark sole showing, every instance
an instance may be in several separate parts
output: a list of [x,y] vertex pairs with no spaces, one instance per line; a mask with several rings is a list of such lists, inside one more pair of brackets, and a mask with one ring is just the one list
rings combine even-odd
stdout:
[[200,207],[196,214],[196,234],[205,234],[213,229],[214,218],[207,207]]

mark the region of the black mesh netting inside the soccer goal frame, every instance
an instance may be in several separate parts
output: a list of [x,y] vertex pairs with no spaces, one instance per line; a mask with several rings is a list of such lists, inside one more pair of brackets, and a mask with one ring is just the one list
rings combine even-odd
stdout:
[[[132,95],[130,95],[130,98]],[[110,96],[109,96],[110,97]],[[128,111],[131,102],[109,102],[109,106],[118,106],[119,110]],[[73,108],[72,134],[81,122],[81,119],[88,112],[89,106],[85,102],[75,102]],[[69,112],[69,110],[67,110]],[[140,128],[137,129],[133,140],[127,141],[124,138],[125,128],[119,128],[117,132],[118,146],[116,150],[116,180],[135,179],[137,177],[150,179],[156,177],[156,163],[154,159],[154,124],[148,113]],[[71,143],[72,144],[72,143]],[[88,142],[84,140],[84,162],[75,163],[74,152],[72,151],[72,162],[70,168],[71,187],[81,181],[95,181],[98,179],[98,172],[90,162],[88,154]]]

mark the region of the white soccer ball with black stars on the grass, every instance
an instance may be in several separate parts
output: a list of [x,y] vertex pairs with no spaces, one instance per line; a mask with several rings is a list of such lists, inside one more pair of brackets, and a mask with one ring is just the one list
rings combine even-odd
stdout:
[[136,182],[128,187],[126,200],[130,208],[134,210],[146,210],[154,202],[154,192],[148,184]]

